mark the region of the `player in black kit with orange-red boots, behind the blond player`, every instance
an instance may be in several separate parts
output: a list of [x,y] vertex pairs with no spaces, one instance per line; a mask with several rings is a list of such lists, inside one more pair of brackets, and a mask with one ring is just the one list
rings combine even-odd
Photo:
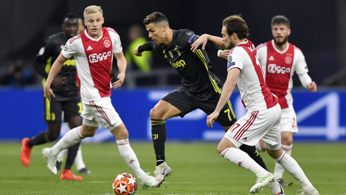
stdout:
[[[34,62],[34,68],[42,77],[44,85],[49,70],[59,56],[61,49],[64,47],[67,40],[77,35],[78,16],[74,13],[67,13],[64,16],[62,24],[63,32],[58,32],[51,35],[45,42],[44,47],[40,49]],[[61,117],[64,111],[64,122],[68,122],[71,129],[82,124],[80,113],[82,105],[80,102],[79,86],[76,83],[76,62],[74,59],[68,59],[61,68],[58,76],[54,78],[52,90],[56,98],[49,101],[44,96],[44,122],[48,124],[48,130],[42,131],[33,138],[23,138],[22,150],[20,152],[20,160],[23,165],[30,165],[30,153],[32,146],[47,143],[59,138],[61,129]],[[76,158],[80,142],[75,146],[68,148],[66,165],[64,172],[61,173],[60,179],[82,180],[83,177],[73,175],[71,166]],[[86,169],[86,168],[85,168]],[[88,170],[87,170],[88,171]]]

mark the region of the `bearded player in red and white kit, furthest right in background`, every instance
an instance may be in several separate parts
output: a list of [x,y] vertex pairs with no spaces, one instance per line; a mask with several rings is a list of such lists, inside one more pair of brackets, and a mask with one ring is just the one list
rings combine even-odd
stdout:
[[[293,134],[298,132],[297,117],[293,108],[292,76],[294,72],[299,76],[304,88],[316,92],[317,86],[308,75],[308,67],[302,51],[289,43],[290,20],[285,16],[275,16],[271,21],[273,40],[256,47],[260,59],[264,78],[271,92],[278,96],[281,107],[281,147],[288,155],[292,153]],[[266,150],[263,141],[256,144],[258,150]],[[275,163],[275,179],[284,185],[282,180],[284,169]],[[287,185],[287,184],[285,184]]]

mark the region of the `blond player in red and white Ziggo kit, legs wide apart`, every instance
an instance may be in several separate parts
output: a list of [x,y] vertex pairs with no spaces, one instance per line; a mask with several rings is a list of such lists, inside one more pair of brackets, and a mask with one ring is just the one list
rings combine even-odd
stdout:
[[[59,73],[64,61],[70,57],[76,60],[80,78],[80,97],[83,105],[82,126],[68,131],[52,148],[44,148],[42,155],[47,160],[47,167],[56,174],[56,160],[61,150],[71,147],[85,137],[94,136],[98,126],[102,125],[117,139],[119,153],[131,170],[138,177],[143,188],[158,187],[155,177],[145,173],[138,162],[136,154],[129,143],[129,132],[114,110],[110,95],[111,88],[119,88],[124,82],[126,59],[122,52],[119,35],[112,28],[102,28],[105,19],[100,6],[88,6],[84,10],[84,23],[87,29],[80,35],[72,37],[66,43],[58,59],[49,71],[44,85],[44,95],[54,97],[50,85]],[[111,84],[113,54],[117,58],[119,75]]]

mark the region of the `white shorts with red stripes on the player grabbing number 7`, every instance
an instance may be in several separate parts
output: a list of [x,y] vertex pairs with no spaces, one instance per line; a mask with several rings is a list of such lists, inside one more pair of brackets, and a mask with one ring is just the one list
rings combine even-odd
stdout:
[[246,112],[225,134],[225,138],[239,148],[242,144],[254,146],[263,139],[266,148],[278,150],[281,147],[281,108],[277,104],[268,110]]

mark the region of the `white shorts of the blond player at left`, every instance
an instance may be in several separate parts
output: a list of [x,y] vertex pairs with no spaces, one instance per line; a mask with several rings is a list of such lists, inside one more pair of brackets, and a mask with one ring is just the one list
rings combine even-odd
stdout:
[[119,114],[115,111],[112,100],[109,97],[83,102],[83,124],[87,126],[102,126],[112,131],[122,123]]

